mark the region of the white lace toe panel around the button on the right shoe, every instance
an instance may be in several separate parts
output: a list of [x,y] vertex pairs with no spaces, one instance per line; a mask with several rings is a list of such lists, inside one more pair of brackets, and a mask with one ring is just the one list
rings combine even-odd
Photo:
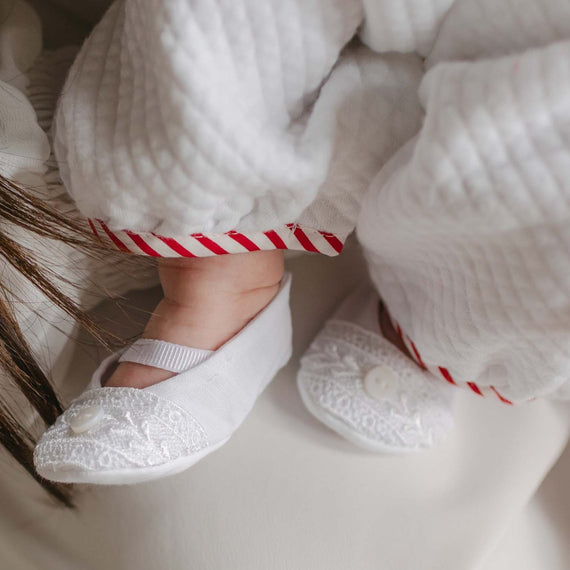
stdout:
[[[397,382],[372,398],[364,377],[378,365]],[[452,425],[451,390],[383,337],[353,323],[327,322],[302,358],[299,382],[313,404],[354,434],[394,449],[428,448]]]

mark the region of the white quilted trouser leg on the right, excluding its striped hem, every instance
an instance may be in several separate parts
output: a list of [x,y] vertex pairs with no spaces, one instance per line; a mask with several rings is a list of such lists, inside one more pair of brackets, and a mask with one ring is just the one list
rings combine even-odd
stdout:
[[358,225],[425,364],[512,401],[562,395],[570,378],[562,38],[566,2],[456,2],[421,85],[423,128],[380,173]]

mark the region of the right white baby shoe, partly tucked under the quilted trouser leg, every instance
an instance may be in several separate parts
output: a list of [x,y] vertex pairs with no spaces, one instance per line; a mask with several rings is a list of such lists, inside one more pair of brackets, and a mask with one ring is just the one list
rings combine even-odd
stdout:
[[370,285],[350,295],[301,359],[306,408],[348,441],[383,453],[431,448],[453,425],[453,389],[382,336]]

